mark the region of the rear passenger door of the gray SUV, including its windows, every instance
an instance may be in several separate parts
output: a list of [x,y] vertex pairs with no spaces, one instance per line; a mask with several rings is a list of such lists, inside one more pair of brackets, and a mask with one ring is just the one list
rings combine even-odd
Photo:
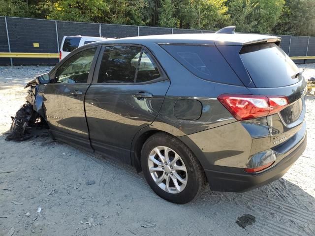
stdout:
[[130,163],[134,135],[156,118],[170,82],[147,49],[106,46],[85,98],[95,151]]

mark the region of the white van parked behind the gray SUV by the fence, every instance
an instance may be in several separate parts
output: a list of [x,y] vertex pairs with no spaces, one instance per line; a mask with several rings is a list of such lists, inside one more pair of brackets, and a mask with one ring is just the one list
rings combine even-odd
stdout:
[[62,60],[71,53],[74,49],[81,47],[87,43],[93,43],[96,41],[103,41],[114,38],[104,38],[104,37],[88,37],[88,36],[63,36],[63,41],[60,46],[59,60]]

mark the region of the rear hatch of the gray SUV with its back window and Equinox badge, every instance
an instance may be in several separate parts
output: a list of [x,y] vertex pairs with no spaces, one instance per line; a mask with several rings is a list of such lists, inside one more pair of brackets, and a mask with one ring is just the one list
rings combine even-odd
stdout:
[[[240,79],[252,95],[287,98],[288,104],[281,111],[267,117],[271,135],[270,147],[276,149],[283,146],[277,151],[284,152],[294,146],[298,139],[303,138],[296,137],[297,133],[305,128],[304,95],[307,81],[303,77],[303,71],[299,70],[276,43],[228,46],[229,51],[232,51],[230,54],[227,53],[227,46],[218,48],[239,77],[242,76]],[[236,68],[240,63],[244,71]],[[284,148],[286,142],[290,147]]]

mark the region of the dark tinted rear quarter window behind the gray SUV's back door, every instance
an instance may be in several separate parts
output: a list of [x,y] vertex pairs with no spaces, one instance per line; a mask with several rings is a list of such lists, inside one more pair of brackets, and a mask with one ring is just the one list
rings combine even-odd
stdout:
[[215,46],[160,45],[194,75],[213,82],[243,86]]

